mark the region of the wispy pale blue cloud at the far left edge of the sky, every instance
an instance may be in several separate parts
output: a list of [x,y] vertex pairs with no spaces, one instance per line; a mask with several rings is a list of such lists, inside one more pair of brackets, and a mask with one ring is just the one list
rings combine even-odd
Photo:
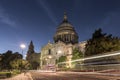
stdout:
[[0,22],[7,24],[11,27],[15,27],[16,23],[10,18],[10,16],[5,12],[5,10],[0,7]]

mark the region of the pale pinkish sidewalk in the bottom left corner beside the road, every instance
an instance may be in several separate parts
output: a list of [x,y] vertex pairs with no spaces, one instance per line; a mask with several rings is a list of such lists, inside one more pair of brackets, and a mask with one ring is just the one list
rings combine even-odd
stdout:
[[8,78],[8,79],[1,79],[1,80],[33,80],[30,73],[21,73],[17,76],[14,76],[12,78]]

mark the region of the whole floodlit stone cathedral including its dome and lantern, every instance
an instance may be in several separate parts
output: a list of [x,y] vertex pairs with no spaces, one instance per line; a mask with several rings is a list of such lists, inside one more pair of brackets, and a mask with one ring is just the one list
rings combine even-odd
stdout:
[[[71,61],[73,49],[78,48],[84,53],[86,41],[79,42],[79,36],[73,25],[68,21],[66,13],[64,13],[63,21],[58,25],[54,42],[48,42],[41,49],[41,68],[56,64],[56,60],[61,56],[66,56],[67,61]],[[67,66],[71,67],[71,63]]]

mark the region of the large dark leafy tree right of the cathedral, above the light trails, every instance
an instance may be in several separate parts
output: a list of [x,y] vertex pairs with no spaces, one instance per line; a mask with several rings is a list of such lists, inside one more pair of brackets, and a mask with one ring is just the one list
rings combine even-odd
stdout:
[[95,30],[92,38],[87,41],[85,48],[85,56],[112,52],[120,50],[120,39],[102,33],[102,29]]

